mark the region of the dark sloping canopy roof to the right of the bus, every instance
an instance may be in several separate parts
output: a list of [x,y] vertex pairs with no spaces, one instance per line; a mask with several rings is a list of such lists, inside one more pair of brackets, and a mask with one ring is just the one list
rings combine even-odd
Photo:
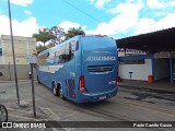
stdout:
[[150,53],[175,51],[175,27],[116,39],[116,43],[118,48],[138,49]]

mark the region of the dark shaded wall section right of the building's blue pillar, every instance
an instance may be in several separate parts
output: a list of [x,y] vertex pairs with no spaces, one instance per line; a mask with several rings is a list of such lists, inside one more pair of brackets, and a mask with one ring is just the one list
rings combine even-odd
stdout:
[[161,80],[170,75],[167,59],[154,60],[154,80]]

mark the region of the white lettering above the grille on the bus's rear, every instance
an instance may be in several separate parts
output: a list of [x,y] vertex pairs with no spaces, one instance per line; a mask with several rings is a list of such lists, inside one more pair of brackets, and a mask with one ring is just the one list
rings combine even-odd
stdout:
[[116,57],[103,57],[103,56],[100,56],[100,57],[88,57],[86,58],[86,61],[115,61],[116,60]]

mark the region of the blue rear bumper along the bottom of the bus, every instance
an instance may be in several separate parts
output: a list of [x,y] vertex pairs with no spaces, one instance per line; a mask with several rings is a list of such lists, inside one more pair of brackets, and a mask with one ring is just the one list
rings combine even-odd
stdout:
[[80,98],[78,103],[89,103],[89,102],[100,102],[114,97],[117,94],[118,88],[114,88],[113,91],[104,92],[104,93],[82,93],[80,94]]

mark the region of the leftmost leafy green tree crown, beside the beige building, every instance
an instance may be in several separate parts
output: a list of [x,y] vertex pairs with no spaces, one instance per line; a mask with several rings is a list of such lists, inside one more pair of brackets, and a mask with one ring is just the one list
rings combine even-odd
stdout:
[[33,37],[35,37],[37,41],[42,41],[44,44],[44,47],[47,41],[56,38],[56,36],[50,33],[49,28],[39,29],[38,34],[33,34]]

